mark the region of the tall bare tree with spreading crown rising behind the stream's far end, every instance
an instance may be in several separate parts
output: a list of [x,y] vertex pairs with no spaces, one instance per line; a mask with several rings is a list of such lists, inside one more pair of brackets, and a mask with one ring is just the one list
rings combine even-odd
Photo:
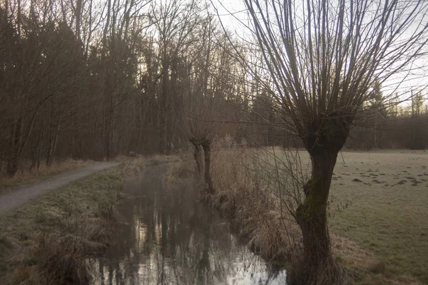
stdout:
[[174,105],[177,96],[174,86],[179,58],[197,41],[194,31],[200,27],[200,1],[161,1],[153,3],[151,15],[158,34],[158,50],[161,63],[160,92],[158,99],[158,133],[161,142],[159,152],[169,152],[175,133]]

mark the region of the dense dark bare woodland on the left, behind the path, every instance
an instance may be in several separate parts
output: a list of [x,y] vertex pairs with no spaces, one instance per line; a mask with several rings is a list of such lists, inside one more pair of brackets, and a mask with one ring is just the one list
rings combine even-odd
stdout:
[[227,48],[196,1],[2,0],[3,167],[183,145],[184,95],[243,108]]

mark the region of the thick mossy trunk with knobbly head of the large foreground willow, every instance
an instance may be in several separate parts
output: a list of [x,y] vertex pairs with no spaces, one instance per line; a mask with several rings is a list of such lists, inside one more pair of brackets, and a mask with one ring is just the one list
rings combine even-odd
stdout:
[[345,145],[352,118],[330,113],[307,126],[303,142],[312,160],[305,200],[297,207],[296,219],[302,230],[304,257],[289,284],[341,284],[340,271],[332,259],[327,228],[327,200],[337,153]]

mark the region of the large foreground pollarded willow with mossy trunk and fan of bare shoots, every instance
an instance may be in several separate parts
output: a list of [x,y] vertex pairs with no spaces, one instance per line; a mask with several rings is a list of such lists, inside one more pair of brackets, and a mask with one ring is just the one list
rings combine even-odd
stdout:
[[298,283],[340,282],[326,215],[337,154],[374,81],[405,74],[425,55],[428,2],[244,2],[272,80],[265,88],[280,106],[283,126],[302,139],[312,161],[305,199],[294,213],[305,251]]

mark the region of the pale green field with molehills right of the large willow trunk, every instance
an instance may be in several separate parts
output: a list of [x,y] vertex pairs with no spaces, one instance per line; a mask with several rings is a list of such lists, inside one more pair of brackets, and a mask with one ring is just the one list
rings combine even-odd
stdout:
[[387,271],[428,284],[428,155],[345,152],[344,158],[330,198],[348,207],[330,217],[330,228],[374,252]]

